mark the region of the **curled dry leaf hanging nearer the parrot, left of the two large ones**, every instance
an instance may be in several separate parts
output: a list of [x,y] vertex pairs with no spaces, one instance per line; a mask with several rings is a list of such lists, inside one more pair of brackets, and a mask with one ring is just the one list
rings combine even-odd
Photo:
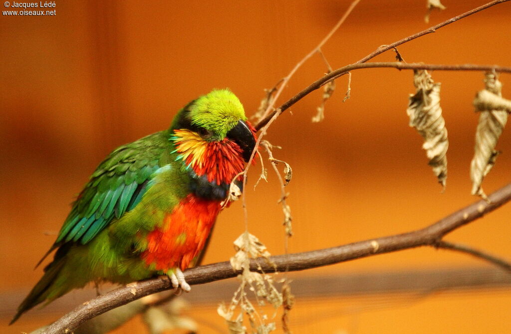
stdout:
[[440,108],[440,83],[435,83],[425,70],[414,71],[413,83],[416,92],[410,95],[406,110],[410,117],[410,126],[416,128],[424,138],[422,147],[426,150],[429,165],[445,189],[449,141]]

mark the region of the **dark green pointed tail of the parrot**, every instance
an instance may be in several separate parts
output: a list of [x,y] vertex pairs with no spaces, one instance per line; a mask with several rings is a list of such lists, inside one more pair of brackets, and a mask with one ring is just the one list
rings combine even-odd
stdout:
[[22,314],[35,305],[46,300],[50,302],[73,288],[72,286],[55,286],[57,277],[64,267],[65,262],[66,256],[56,256],[53,262],[44,268],[44,275],[39,282],[37,282],[34,288],[32,288],[32,291],[29,293],[27,298],[25,298],[25,300],[18,306],[16,315],[12,318],[9,325],[12,325]]

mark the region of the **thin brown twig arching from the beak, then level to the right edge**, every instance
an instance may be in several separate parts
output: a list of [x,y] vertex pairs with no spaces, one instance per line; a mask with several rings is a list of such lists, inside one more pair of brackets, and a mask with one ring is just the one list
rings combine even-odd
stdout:
[[335,71],[332,71],[323,77],[317,79],[309,86],[304,88],[303,91],[299,92],[288,101],[286,101],[280,108],[277,108],[275,112],[270,114],[267,118],[261,120],[254,127],[259,130],[262,127],[266,127],[267,124],[273,122],[273,117],[282,114],[290,106],[303,99],[309,93],[321,88],[324,84],[331,80],[335,80],[346,73],[353,70],[359,69],[376,69],[376,68],[394,68],[398,70],[430,70],[430,71],[495,71],[499,73],[511,73],[511,67],[497,66],[497,65],[476,65],[476,64],[422,64],[422,63],[402,63],[402,62],[368,62],[368,63],[355,63],[346,65]]

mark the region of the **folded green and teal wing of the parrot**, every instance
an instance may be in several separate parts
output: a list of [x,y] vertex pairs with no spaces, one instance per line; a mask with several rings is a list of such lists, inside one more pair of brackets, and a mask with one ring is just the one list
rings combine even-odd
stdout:
[[165,131],[115,149],[82,190],[55,241],[85,244],[140,202],[169,142]]

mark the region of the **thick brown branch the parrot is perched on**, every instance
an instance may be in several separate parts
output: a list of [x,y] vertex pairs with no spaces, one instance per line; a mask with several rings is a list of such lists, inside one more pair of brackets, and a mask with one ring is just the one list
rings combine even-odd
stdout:
[[[511,200],[511,184],[491,194],[489,199],[491,203],[480,200],[421,230],[354,242],[334,248],[272,256],[271,260],[275,263],[275,267],[268,264],[265,260],[258,261],[256,259],[252,260],[250,268],[255,271],[259,266],[266,273],[284,271],[286,269],[289,271],[298,271],[420,246],[437,247],[438,244],[442,244],[441,240],[446,234],[469,224],[469,222],[509,202]],[[236,277],[238,274],[240,273],[234,272],[230,263],[227,261],[201,265],[184,272],[185,279],[191,285],[232,278]],[[128,284],[127,286],[120,287],[117,290],[78,306],[73,311],[51,324],[44,333],[68,333],[83,322],[112,308],[171,288],[172,283],[167,277]]]

